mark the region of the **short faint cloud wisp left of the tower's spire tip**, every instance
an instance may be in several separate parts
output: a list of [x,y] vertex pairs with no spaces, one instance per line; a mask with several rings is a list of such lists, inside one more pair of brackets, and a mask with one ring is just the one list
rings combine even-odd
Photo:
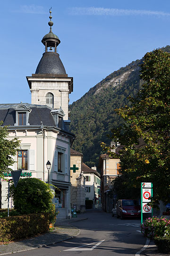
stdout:
[[13,12],[20,12],[20,13],[31,13],[31,14],[44,14],[46,13],[42,6],[38,5],[21,5],[18,10],[13,10]]

